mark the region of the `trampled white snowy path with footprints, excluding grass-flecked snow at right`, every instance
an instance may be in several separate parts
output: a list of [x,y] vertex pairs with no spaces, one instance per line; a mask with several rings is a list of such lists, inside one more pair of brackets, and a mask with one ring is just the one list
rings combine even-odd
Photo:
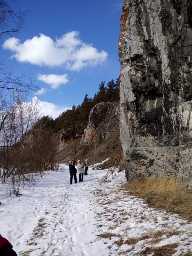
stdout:
[[20,198],[2,200],[0,233],[19,255],[109,255],[94,234],[95,199],[90,193],[103,171],[89,172],[84,182],[70,185],[68,166],[62,167],[22,190]]

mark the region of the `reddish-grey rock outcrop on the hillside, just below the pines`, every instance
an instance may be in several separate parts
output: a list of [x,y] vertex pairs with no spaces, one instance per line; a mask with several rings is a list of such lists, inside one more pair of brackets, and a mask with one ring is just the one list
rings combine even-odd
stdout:
[[90,111],[81,144],[107,140],[119,127],[119,102],[101,102]]

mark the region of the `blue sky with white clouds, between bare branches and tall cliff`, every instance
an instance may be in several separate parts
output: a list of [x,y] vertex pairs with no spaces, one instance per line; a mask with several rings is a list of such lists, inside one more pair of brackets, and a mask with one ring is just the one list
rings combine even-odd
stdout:
[[[17,0],[29,10],[16,38],[1,40],[1,57],[15,75],[34,79],[44,114],[59,115],[101,81],[119,76],[117,42],[124,0]],[[46,103],[47,102],[47,103]]]

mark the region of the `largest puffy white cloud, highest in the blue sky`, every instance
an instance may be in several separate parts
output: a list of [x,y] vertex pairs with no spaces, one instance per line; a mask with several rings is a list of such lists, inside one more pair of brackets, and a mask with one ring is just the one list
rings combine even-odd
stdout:
[[7,39],[3,49],[9,49],[12,57],[20,62],[29,62],[38,66],[60,67],[79,71],[85,66],[95,66],[107,59],[108,53],[99,52],[92,44],[83,43],[78,31],[71,31],[56,41],[40,34],[20,43],[18,38]]

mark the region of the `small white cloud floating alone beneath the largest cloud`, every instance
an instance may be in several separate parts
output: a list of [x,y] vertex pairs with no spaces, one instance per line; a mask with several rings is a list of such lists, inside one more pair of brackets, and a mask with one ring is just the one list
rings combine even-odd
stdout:
[[38,74],[38,80],[43,81],[46,84],[50,84],[52,89],[58,88],[61,84],[68,83],[67,74],[63,75],[41,75]]

